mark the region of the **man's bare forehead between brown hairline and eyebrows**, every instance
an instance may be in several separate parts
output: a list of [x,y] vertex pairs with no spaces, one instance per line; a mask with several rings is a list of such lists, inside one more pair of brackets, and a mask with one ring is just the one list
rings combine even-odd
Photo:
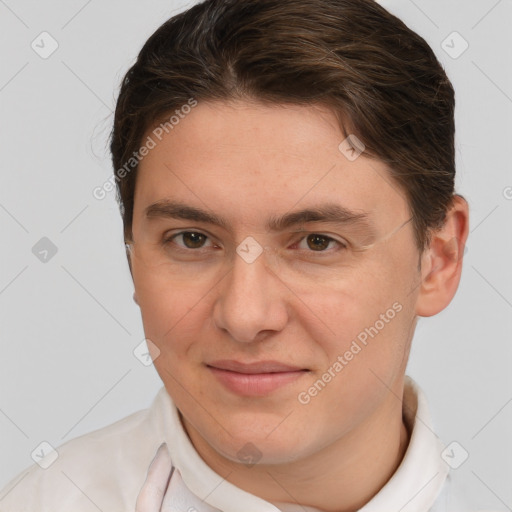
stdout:
[[162,200],[239,223],[321,203],[368,213],[377,223],[408,215],[386,166],[364,152],[347,158],[337,118],[321,106],[199,103],[178,122],[153,126],[148,137],[154,147],[139,164],[134,223]]

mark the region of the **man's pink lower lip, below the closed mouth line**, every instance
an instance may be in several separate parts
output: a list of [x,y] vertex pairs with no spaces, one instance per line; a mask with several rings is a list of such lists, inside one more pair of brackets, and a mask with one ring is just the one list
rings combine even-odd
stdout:
[[273,391],[300,379],[307,371],[276,373],[237,373],[220,370],[211,366],[208,369],[230,391],[243,396],[265,396]]

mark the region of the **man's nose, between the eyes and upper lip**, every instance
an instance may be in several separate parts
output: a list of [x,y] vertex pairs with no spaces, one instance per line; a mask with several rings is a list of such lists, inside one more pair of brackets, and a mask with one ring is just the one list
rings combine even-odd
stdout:
[[238,254],[220,283],[213,318],[238,342],[260,341],[281,331],[288,321],[288,290],[268,268],[265,254],[248,263]]

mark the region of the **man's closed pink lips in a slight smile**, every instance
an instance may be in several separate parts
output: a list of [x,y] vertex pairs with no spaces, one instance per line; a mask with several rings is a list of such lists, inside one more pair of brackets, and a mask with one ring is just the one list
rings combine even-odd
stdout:
[[242,396],[266,396],[309,372],[307,368],[290,366],[278,361],[247,364],[222,360],[206,366],[225,388]]

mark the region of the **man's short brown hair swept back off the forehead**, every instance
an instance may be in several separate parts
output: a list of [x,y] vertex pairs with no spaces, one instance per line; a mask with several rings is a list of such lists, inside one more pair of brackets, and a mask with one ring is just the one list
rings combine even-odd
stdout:
[[126,162],[191,98],[325,105],[365,155],[388,164],[420,250],[445,220],[453,87],[425,40],[373,0],[206,0],[158,28],[122,81],[111,133],[114,170],[125,166],[116,182],[127,241],[137,165],[126,172]]

